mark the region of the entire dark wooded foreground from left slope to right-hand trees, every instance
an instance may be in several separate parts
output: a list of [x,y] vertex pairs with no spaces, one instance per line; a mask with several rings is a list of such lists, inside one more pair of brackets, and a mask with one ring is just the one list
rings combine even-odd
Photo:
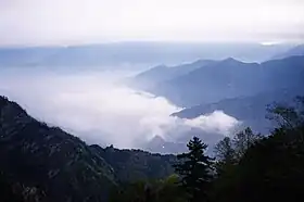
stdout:
[[[263,202],[302,197],[304,98],[270,111],[277,128],[250,128],[215,147],[194,137],[187,153],[87,146],[0,99],[0,199],[13,202]],[[174,165],[174,166],[170,166]],[[175,174],[174,174],[175,173]],[[301,198],[300,198],[301,199]]]

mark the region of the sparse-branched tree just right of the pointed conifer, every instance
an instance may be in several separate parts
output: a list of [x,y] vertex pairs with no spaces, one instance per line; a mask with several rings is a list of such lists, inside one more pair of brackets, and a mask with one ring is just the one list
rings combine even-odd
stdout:
[[248,127],[236,134],[233,139],[225,137],[215,146],[214,152],[217,161],[215,164],[216,178],[210,193],[212,201],[236,201],[236,195],[240,194],[238,191],[239,162],[259,139],[261,136],[253,134]]

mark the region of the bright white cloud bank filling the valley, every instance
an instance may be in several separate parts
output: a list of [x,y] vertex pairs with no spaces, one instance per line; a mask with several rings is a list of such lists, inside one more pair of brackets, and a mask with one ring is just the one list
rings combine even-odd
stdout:
[[1,94],[17,101],[34,117],[89,143],[134,148],[156,135],[169,141],[185,139],[192,128],[229,135],[240,123],[217,111],[195,119],[169,116],[180,109],[164,98],[114,85],[117,78],[100,72],[18,68],[0,73]]

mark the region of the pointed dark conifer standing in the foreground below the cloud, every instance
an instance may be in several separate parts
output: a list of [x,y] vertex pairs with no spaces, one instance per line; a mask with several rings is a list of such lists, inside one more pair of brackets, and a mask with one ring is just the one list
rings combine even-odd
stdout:
[[175,165],[181,177],[181,186],[191,202],[207,201],[207,189],[213,178],[213,159],[204,154],[207,146],[198,137],[187,144],[189,152],[177,155],[180,163]]

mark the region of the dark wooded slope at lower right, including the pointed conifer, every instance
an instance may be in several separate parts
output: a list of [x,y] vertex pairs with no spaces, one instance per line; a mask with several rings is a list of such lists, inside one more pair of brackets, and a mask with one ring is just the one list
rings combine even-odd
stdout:
[[215,159],[198,137],[177,155],[177,176],[159,181],[138,181],[118,188],[118,202],[266,202],[297,201],[304,180],[304,99],[270,110],[278,123],[267,137],[251,128],[225,137],[215,147]]

